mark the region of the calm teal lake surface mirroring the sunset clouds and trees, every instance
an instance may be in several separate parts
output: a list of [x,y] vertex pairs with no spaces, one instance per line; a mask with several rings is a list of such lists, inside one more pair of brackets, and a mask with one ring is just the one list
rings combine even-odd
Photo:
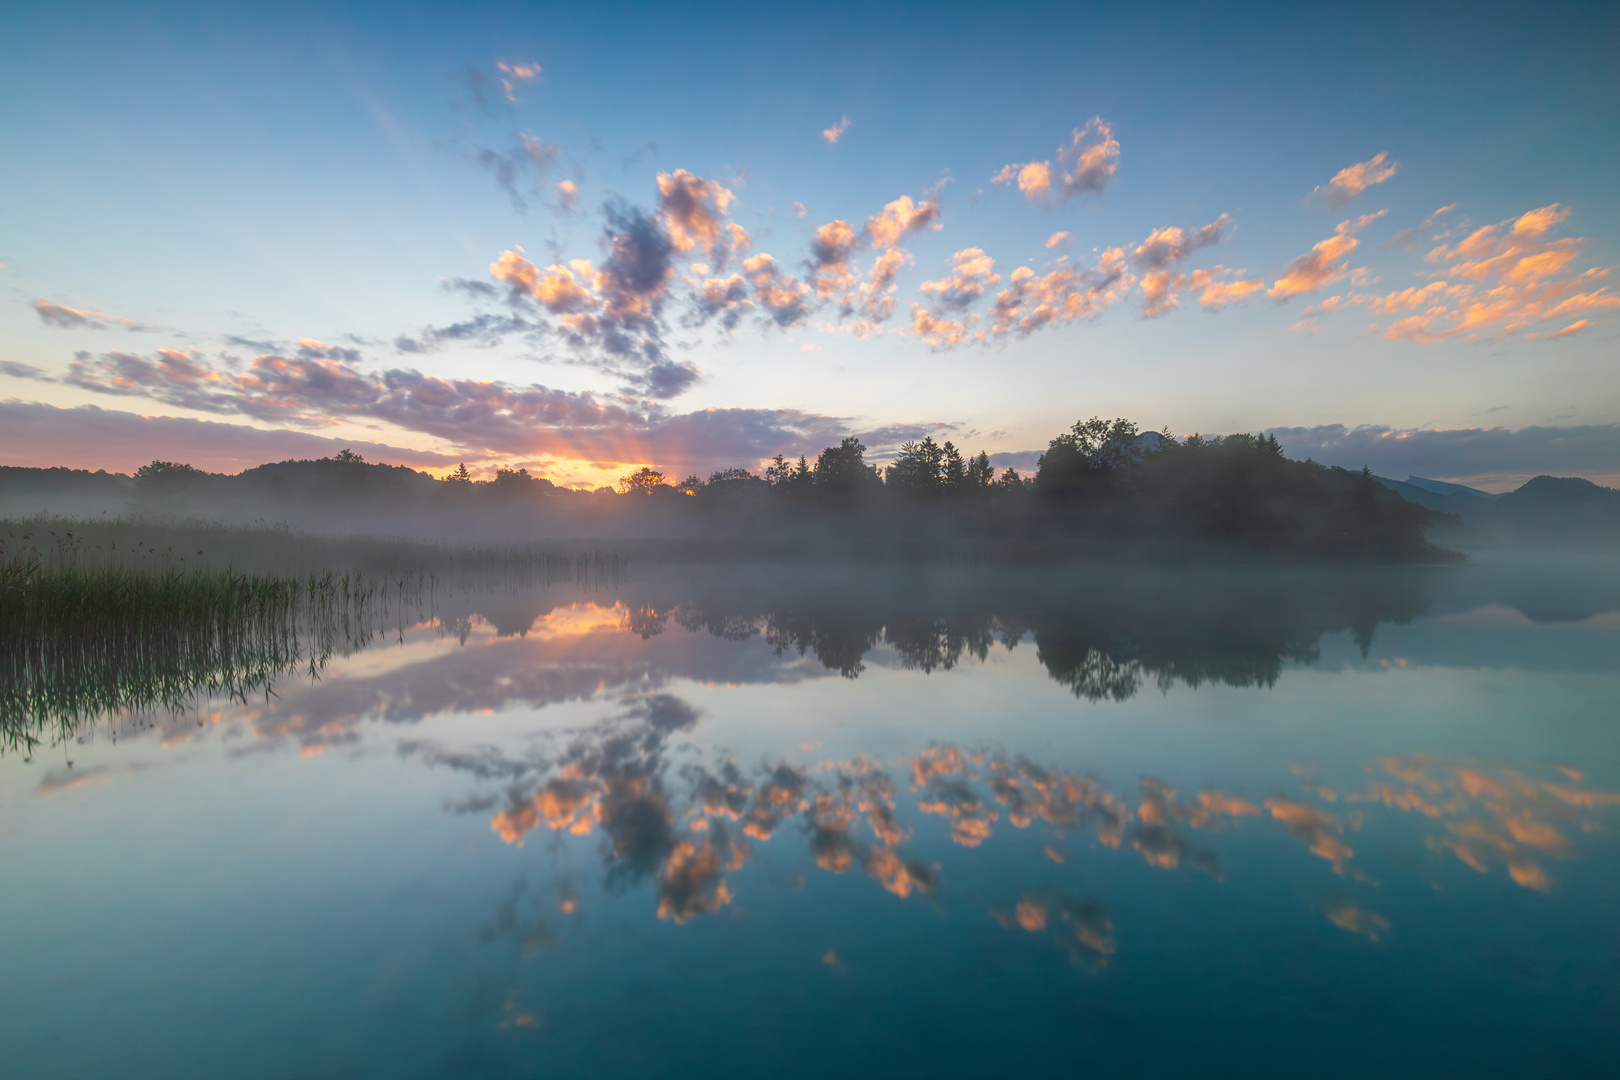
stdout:
[[1604,1075],[1617,703],[1614,560],[470,589],[0,758],[5,1074]]

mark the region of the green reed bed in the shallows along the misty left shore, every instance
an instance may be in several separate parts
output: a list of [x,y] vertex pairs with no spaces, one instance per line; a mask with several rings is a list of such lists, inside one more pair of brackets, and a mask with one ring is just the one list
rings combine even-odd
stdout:
[[[251,568],[243,568],[251,567]],[[433,622],[449,589],[616,585],[612,552],[316,538],[275,526],[0,521],[0,753],[97,721],[269,695]]]

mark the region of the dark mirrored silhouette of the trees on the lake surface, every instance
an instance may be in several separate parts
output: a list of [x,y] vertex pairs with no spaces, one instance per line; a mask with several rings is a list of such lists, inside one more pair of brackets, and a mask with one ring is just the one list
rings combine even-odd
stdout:
[[951,670],[1025,638],[1050,675],[1090,701],[1124,701],[1147,680],[1162,688],[1207,682],[1270,687],[1286,664],[1309,664],[1327,633],[1349,631],[1362,654],[1380,622],[1409,622],[1427,607],[1409,576],[1234,578],[1218,588],[1140,593],[1092,589],[1045,597],[930,607],[917,597],[839,596],[831,602],[758,607],[724,601],[643,604],[629,617],[643,638],[671,622],[742,641],[763,636],[778,654],[815,656],[846,678],[888,646],[909,670]]

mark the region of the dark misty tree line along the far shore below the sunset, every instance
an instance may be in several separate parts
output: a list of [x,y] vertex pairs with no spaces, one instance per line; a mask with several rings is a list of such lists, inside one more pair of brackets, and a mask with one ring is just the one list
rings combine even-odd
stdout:
[[883,465],[855,437],[669,483],[557,487],[526,470],[436,479],[363,460],[261,465],[235,476],[152,461],[131,476],[0,468],[0,513],[144,513],[287,521],[301,529],[455,538],[598,538],[667,557],[1311,559],[1430,562],[1445,513],[1359,473],[1290,460],[1275,437],[1144,432],[1092,418],[1051,439],[1030,474],[987,453],[907,442]]

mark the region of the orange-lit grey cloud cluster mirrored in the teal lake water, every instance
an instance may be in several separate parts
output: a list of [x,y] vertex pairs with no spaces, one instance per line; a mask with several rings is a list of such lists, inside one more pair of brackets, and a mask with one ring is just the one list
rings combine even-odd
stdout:
[[[407,743],[403,753],[468,772],[488,784],[460,810],[489,813],[491,829],[514,847],[533,836],[599,836],[612,892],[651,881],[659,918],[687,923],[734,902],[731,876],[755,847],[781,836],[805,844],[823,871],[860,871],[899,899],[940,902],[944,871],[915,858],[914,832],[938,819],[953,844],[975,850],[996,831],[1038,829],[1045,857],[1068,861],[1072,840],[1131,852],[1165,871],[1223,878],[1210,839],[1226,829],[1262,827],[1290,837],[1335,874],[1361,882],[1354,832],[1374,808],[1432,823],[1435,857],[1455,857],[1479,873],[1503,870],[1518,886],[1545,891],[1547,860],[1570,857],[1575,837],[1599,826],[1596,811],[1620,805],[1620,792],[1594,792],[1581,776],[1550,779],[1424,755],[1388,758],[1359,790],[1333,790],[1301,774],[1296,797],[1246,798],[1215,789],[1191,793],[1144,777],[1134,793],[1024,756],[935,745],[893,766],[854,756],[802,764],[735,761],[676,767],[669,750],[690,733],[698,712],[672,695],[650,695],[624,712],[573,733],[554,756],[512,759],[494,750],[457,753]],[[1048,871],[1063,874],[1063,871]],[[1013,886],[1006,907],[990,912],[1008,929],[1050,934],[1087,968],[1115,950],[1113,925],[1095,897],[1071,897],[1050,884]],[[1014,899],[1016,897],[1016,899]],[[564,884],[559,908],[582,899]],[[1374,941],[1388,921],[1351,900],[1324,915]],[[554,942],[552,942],[554,944]]]

